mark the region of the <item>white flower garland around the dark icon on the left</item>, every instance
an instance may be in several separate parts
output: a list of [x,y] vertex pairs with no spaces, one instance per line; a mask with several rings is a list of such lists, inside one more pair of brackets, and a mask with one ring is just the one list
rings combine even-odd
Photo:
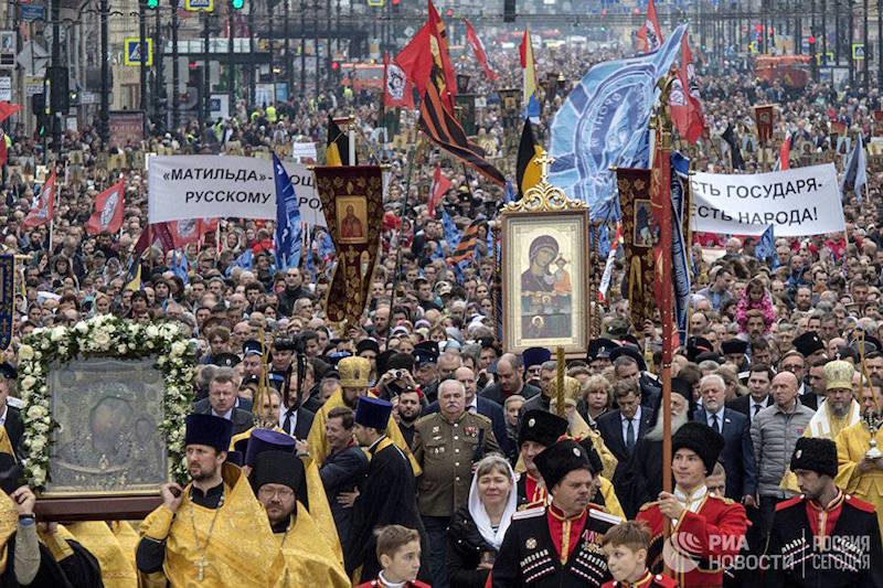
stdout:
[[46,484],[52,430],[58,427],[50,411],[49,366],[75,357],[150,356],[157,357],[156,367],[166,382],[163,419],[158,428],[166,439],[169,474],[178,482],[187,480],[184,417],[193,402],[194,348],[174,323],[145,325],[103,314],[71,328],[34,329],[19,348],[18,388],[24,402],[22,443],[28,453],[23,469],[31,488],[40,490]]

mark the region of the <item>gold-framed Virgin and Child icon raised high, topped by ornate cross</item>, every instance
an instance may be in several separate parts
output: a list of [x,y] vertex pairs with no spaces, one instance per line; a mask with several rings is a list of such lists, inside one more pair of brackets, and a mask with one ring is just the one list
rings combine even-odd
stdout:
[[588,209],[545,178],[502,211],[503,346],[588,350]]

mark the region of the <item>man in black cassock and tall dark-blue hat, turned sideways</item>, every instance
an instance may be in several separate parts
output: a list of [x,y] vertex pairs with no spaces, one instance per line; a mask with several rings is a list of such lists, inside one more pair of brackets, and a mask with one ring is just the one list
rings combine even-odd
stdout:
[[355,405],[353,432],[359,445],[368,448],[371,463],[353,505],[353,521],[343,558],[347,574],[362,566],[362,578],[376,578],[381,565],[376,556],[374,528],[397,524],[421,534],[423,562],[419,578],[428,574],[426,532],[417,510],[416,483],[407,457],[386,437],[386,424],[393,405],[381,398],[360,396]]

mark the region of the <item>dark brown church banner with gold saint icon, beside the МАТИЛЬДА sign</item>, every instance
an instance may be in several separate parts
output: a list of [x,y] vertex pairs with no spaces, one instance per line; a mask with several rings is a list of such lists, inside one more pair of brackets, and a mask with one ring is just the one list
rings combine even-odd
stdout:
[[376,165],[313,168],[338,266],[328,289],[326,313],[358,325],[377,260],[383,220],[383,177]]

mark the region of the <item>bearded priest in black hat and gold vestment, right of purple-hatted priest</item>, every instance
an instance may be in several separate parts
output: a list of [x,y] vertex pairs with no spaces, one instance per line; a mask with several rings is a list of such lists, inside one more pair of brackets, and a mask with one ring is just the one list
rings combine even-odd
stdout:
[[305,478],[302,462],[290,451],[265,451],[252,469],[252,488],[267,511],[285,557],[286,575],[279,586],[348,588],[343,564],[330,545],[319,544],[321,531],[298,500],[298,493],[304,494]]

